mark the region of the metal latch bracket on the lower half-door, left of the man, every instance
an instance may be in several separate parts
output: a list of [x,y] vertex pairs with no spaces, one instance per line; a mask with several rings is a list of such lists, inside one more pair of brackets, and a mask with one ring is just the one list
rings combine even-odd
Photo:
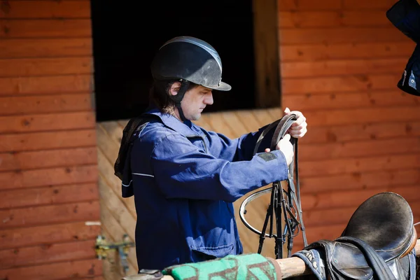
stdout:
[[116,250],[118,255],[120,255],[121,265],[123,265],[124,273],[128,272],[128,262],[127,256],[130,251],[130,247],[136,246],[134,242],[130,241],[128,235],[123,235],[123,241],[120,243],[111,243],[106,244],[105,237],[103,235],[98,235],[97,240],[94,246],[94,251],[96,251],[97,258],[99,260],[106,259],[106,251]]

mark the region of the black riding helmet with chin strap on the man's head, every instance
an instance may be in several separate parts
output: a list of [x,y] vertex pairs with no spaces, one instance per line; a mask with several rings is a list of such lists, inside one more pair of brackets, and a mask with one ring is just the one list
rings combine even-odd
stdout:
[[222,82],[222,62],[218,52],[207,42],[191,36],[179,36],[164,43],[151,64],[153,79],[179,80],[181,88],[175,97],[181,118],[181,101],[189,83],[212,90],[229,91],[230,85]]

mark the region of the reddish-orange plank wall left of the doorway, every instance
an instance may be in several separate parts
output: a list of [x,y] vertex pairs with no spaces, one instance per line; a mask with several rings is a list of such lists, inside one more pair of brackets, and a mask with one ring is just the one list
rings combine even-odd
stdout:
[[93,110],[90,2],[1,1],[0,279],[102,275]]

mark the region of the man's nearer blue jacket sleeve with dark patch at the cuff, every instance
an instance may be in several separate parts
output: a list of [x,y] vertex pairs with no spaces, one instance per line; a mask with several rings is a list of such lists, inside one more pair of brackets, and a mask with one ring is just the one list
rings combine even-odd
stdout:
[[288,178],[281,151],[257,153],[251,160],[230,162],[203,153],[179,134],[156,144],[151,167],[158,187],[167,198],[225,200]]

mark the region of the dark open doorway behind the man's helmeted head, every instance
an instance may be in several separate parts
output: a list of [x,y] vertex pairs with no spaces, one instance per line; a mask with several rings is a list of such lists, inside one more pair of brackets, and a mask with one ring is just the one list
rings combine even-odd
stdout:
[[195,36],[216,48],[230,92],[207,112],[255,107],[252,1],[92,0],[97,121],[139,115],[148,106],[150,64],[165,41]]

